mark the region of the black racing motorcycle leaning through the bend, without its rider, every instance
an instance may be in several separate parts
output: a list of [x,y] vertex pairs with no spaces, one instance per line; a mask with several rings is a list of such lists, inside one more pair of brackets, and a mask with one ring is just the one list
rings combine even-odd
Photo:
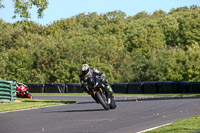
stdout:
[[115,109],[117,107],[114,97],[109,98],[107,92],[103,89],[105,85],[95,75],[91,74],[87,79],[86,91],[92,98],[100,103],[105,110]]

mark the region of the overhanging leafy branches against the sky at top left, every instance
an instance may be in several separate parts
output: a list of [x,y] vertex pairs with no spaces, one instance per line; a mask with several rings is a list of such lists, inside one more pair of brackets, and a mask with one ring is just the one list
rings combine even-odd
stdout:
[[[0,0],[0,8],[4,8],[5,6],[2,4],[3,0]],[[38,18],[43,17],[43,11],[48,6],[48,0],[13,0],[14,2],[14,16],[13,18],[16,18],[16,14],[19,14],[21,18],[29,19],[30,13],[29,10],[32,8],[32,6],[36,6],[38,8]]]

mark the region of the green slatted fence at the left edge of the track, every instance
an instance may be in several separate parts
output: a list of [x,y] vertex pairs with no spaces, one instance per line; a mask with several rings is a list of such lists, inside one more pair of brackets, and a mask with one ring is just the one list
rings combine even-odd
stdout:
[[0,80],[0,102],[14,102],[16,100],[16,83]]

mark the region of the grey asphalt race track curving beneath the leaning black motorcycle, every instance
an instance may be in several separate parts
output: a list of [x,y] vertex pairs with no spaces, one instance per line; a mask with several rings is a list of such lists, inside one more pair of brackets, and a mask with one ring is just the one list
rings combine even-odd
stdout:
[[115,97],[105,111],[89,96],[34,96],[76,104],[0,113],[0,133],[135,133],[200,115],[200,98]]

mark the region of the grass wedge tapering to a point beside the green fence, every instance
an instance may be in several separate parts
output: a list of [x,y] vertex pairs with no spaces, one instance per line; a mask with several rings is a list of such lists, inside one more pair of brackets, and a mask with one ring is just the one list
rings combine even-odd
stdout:
[[75,101],[55,101],[55,100],[40,100],[40,99],[27,99],[17,98],[12,103],[0,103],[0,112],[9,112],[22,109],[40,108],[52,105],[70,104]]

